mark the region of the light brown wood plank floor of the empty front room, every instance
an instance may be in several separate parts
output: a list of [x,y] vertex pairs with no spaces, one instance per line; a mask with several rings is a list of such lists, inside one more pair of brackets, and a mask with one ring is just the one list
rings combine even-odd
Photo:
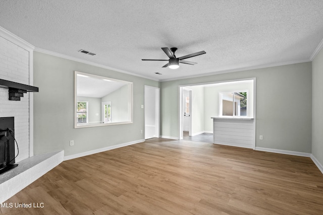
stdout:
[[65,161],[6,203],[3,214],[323,214],[310,158],[185,140]]

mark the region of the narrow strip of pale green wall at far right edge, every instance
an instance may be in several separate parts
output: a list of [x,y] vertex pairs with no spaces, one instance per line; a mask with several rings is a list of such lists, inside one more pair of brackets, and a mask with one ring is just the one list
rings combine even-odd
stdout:
[[312,154],[323,165],[323,49],[312,61]]

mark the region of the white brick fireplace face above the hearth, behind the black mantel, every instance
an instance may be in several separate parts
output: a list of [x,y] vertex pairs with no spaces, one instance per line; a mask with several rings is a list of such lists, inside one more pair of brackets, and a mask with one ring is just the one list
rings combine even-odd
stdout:
[[[0,37],[0,47],[0,79],[32,85],[32,47],[21,47],[4,37]],[[19,143],[16,162],[19,162],[33,156],[30,144],[32,93],[24,94],[21,101],[9,101],[8,89],[0,88],[0,117],[12,116],[15,117],[15,138]]]

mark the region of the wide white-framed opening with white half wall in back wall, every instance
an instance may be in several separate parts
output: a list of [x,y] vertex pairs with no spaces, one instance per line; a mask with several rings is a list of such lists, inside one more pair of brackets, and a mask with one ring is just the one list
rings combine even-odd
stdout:
[[[184,126],[185,89],[192,93],[191,133],[185,131],[187,128]],[[233,101],[240,100],[240,105],[231,103],[233,114],[223,112],[223,101],[227,101],[223,95],[228,93],[235,96]],[[179,94],[179,139],[255,148],[255,78],[182,85],[179,86]],[[235,124],[237,120],[248,131],[241,132]],[[245,125],[247,122],[250,126]]]

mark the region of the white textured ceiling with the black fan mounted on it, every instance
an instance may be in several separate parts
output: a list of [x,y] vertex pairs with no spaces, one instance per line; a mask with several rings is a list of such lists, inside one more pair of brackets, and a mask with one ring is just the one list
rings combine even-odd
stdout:
[[[323,1],[2,0],[0,26],[38,51],[165,81],[310,61],[323,38]],[[141,60],[168,59],[161,47],[206,54],[175,70]]]

